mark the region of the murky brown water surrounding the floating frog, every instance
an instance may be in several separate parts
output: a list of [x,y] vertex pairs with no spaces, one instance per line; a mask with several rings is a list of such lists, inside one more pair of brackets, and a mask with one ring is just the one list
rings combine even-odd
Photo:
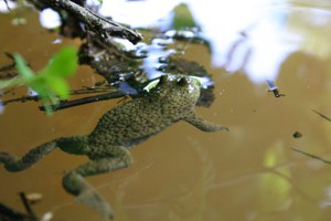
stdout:
[[[28,24],[12,27],[12,17],[0,14],[0,53],[20,52],[38,70],[62,44],[51,44],[56,34],[41,29],[35,14],[23,15]],[[330,39],[330,32],[323,34]],[[276,81],[286,96],[276,98],[267,84],[252,83],[244,72],[213,69],[207,50],[192,45],[185,57],[207,69],[216,94],[211,108],[196,110],[231,131],[206,134],[178,123],[135,147],[130,168],[88,181],[120,221],[330,220],[331,165],[291,150],[331,159],[331,123],[312,112],[331,116],[330,56],[317,55],[293,53],[286,59]],[[1,56],[0,64],[6,62]],[[92,73],[82,67],[72,87],[93,85],[100,77]],[[60,136],[88,134],[116,105],[117,101],[100,102],[49,117],[38,104],[11,104],[0,115],[1,150],[22,155]],[[302,137],[295,139],[297,130]],[[19,173],[0,168],[0,201],[23,211],[18,192],[40,192],[42,202],[33,206],[36,214],[52,211],[54,220],[97,220],[96,211],[75,203],[61,186],[64,171],[85,161],[55,150]]]

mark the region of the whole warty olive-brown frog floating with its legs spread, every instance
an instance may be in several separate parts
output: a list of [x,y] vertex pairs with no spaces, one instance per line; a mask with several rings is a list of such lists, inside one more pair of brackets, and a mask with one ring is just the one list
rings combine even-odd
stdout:
[[85,155],[88,161],[64,173],[63,188],[76,201],[97,209],[103,218],[113,219],[110,204],[94,189],[86,177],[129,167],[129,149],[184,120],[203,131],[228,130],[211,124],[195,113],[201,84],[190,76],[162,75],[156,86],[105,113],[89,135],[60,137],[42,144],[23,157],[0,152],[0,164],[10,172],[28,169],[55,148],[72,155]]

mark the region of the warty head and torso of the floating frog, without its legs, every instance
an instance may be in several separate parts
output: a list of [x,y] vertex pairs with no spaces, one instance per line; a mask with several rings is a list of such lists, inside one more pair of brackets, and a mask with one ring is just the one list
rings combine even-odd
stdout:
[[194,112],[200,87],[194,80],[161,78],[143,97],[119,105],[106,113],[89,136],[98,145],[130,147]]

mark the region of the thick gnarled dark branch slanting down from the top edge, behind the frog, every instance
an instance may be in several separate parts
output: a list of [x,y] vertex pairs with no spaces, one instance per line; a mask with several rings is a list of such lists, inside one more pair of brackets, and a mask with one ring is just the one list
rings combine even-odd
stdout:
[[70,13],[75,14],[86,28],[99,34],[103,39],[107,40],[110,36],[117,36],[129,40],[132,44],[142,40],[142,35],[136,30],[128,29],[117,22],[110,21],[87,8],[81,7],[70,0],[51,0],[51,4],[60,9],[64,9]]

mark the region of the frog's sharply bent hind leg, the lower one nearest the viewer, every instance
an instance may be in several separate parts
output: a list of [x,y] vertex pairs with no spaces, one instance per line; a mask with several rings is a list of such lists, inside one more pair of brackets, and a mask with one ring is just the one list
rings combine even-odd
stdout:
[[95,208],[104,218],[111,219],[114,213],[110,206],[84,177],[128,167],[132,160],[129,151],[124,147],[105,147],[102,151],[97,152],[98,157],[96,158],[90,155],[92,161],[66,172],[63,178],[63,187],[67,192],[76,196],[78,202]]

